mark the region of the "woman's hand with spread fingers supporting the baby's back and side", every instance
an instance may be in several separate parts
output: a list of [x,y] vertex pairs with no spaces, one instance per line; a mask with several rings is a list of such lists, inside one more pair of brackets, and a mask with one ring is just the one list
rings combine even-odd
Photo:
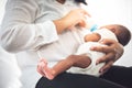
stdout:
[[121,44],[113,40],[102,40],[100,43],[106,44],[107,46],[94,46],[91,47],[91,51],[98,51],[106,53],[106,56],[99,58],[97,61],[97,64],[99,63],[106,63],[106,65],[100,69],[100,73],[107,72],[113,63],[120,58],[123,54],[123,47]]

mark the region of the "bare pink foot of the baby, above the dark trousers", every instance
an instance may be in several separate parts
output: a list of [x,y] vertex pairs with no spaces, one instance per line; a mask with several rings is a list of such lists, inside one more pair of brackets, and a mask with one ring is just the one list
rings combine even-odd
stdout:
[[47,79],[53,79],[53,70],[52,68],[47,67],[47,62],[45,59],[41,59],[37,65],[37,72],[46,77]]

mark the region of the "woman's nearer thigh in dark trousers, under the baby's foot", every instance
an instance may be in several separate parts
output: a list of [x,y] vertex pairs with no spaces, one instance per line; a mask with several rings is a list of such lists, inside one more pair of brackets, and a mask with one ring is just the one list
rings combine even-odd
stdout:
[[42,77],[37,82],[36,88],[123,88],[123,87],[94,76],[64,73],[53,80],[48,80]]

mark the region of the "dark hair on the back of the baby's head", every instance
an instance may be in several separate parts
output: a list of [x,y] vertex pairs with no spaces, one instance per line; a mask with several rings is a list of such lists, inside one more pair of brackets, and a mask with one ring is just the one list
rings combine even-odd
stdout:
[[117,34],[119,43],[121,43],[123,46],[125,46],[131,40],[131,32],[129,31],[128,28],[125,28],[123,25],[114,24],[114,26],[120,30],[120,33]]

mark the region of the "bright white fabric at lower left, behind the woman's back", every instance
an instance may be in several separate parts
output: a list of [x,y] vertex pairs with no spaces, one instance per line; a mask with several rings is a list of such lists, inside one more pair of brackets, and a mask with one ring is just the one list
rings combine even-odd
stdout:
[[0,88],[20,88],[20,76],[15,56],[0,46]]

